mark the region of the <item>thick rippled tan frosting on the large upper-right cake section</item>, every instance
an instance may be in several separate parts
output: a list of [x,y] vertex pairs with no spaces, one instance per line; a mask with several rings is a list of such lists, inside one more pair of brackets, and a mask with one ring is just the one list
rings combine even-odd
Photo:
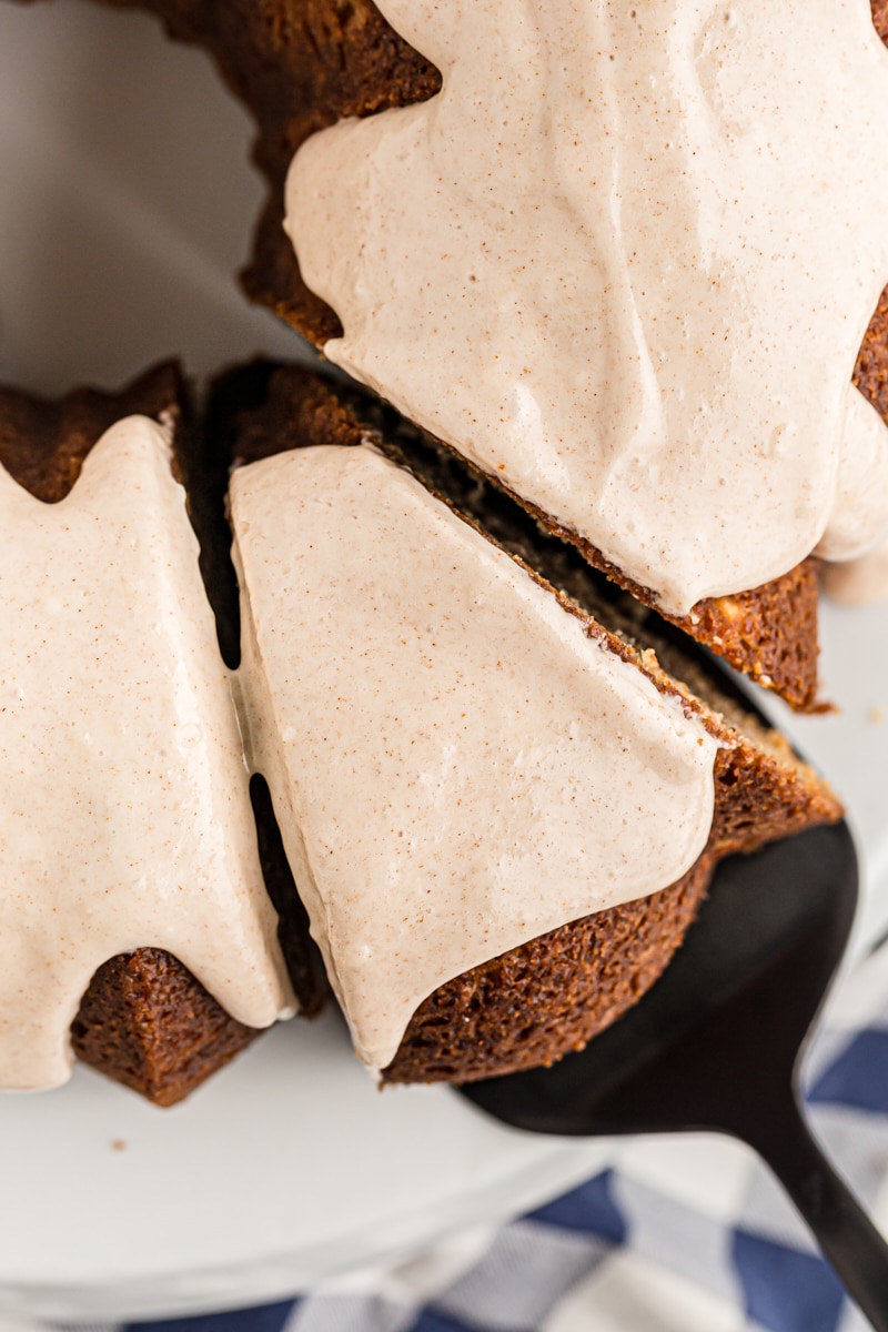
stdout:
[[674,614],[831,542],[873,434],[885,492],[851,388],[888,278],[868,0],[378,4],[443,88],[294,159],[330,360]]

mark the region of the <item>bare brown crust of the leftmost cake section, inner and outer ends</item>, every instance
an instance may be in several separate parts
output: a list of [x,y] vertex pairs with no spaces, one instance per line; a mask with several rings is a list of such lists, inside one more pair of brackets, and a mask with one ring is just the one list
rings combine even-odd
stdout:
[[[197,465],[188,394],[174,364],[156,366],[120,393],[79,389],[57,402],[0,386],[0,462],[37,498],[57,502],[75,485],[100,436],[114,421],[136,413],[177,426],[180,476]],[[308,946],[301,904],[284,902],[289,884],[274,832],[261,818],[262,868],[284,919],[281,943],[294,988],[310,1014],[325,992],[321,963]],[[79,1059],[158,1106],[181,1100],[256,1035],[158,948],[140,948],[100,967],[72,1027]]]

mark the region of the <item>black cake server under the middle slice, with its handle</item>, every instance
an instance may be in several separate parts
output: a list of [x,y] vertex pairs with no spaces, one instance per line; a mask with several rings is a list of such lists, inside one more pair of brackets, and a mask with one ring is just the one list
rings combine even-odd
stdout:
[[799,1098],[800,1055],[856,900],[845,823],[724,860],[683,947],[635,1008],[553,1068],[461,1094],[539,1134],[710,1130],[742,1139],[888,1332],[888,1247],[812,1139]]

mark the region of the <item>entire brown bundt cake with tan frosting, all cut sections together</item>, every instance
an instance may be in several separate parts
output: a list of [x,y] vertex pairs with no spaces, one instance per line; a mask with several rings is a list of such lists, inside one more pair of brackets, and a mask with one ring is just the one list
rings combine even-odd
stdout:
[[[317,1010],[317,948],[383,1083],[551,1063],[662,974],[719,858],[841,814],[671,625],[817,706],[816,557],[888,517],[884,301],[851,389],[888,277],[884,53],[849,15],[832,100],[788,115],[812,165],[770,95],[821,0],[694,32],[676,0],[670,41],[576,5],[138,8],[257,117],[248,290],[411,420],[264,364],[205,428],[170,366],[0,390],[0,1086],[76,1054],[172,1104]],[[580,45],[591,139],[541,111],[550,84],[582,105]],[[634,99],[642,56],[668,77]]]

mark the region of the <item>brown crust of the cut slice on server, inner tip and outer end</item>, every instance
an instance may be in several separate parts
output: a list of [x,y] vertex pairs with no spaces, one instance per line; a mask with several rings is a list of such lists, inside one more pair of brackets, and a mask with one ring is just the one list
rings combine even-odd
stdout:
[[[353,446],[367,434],[353,394],[292,366],[257,362],[224,378],[216,393],[225,404],[217,444],[238,462],[316,444]],[[429,438],[414,428],[402,430]],[[562,603],[588,619],[572,601],[562,597]],[[755,739],[746,738],[667,675],[650,650],[640,653],[594,621],[588,631],[658,689],[680,693],[730,746],[716,757],[708,844],[664,891],[563,926],[439,987],[414,1014],[383,1082],[469,1082],[553,1063],[580,1048],[662,975],[723,855],[841,817],[832,793],[781,737],[759,729]]]

